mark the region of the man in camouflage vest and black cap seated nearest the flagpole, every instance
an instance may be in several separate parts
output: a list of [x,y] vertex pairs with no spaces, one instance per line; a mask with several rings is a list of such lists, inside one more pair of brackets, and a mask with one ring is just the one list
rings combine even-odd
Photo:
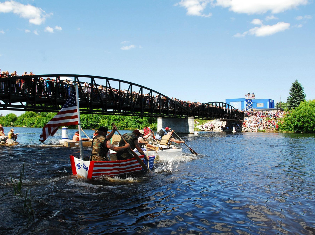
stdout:
[[[119,151],[130,148],[129,144],[122,147],[116,147],[112,145],[109,141],[107,141],[112,138],[116,130],[117,127],[115,125],[113,126],[112,132],[110,133],[108,132],[108,128],[106,127],[98,128],[98,134],[95,135],[92,140],[91,158],[93,161],[109,161],[109,159],[107,159],[107,153],[109,149],[114,150],[118,153]],[[107,133],[109,134],[107,135]]]

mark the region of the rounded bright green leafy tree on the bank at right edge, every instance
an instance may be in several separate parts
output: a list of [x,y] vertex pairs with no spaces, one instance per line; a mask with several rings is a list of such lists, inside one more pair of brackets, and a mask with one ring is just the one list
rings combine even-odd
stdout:
[[285,115],[280,128],[295,133],[315,133],[315,100],[301,102],[299,107]]

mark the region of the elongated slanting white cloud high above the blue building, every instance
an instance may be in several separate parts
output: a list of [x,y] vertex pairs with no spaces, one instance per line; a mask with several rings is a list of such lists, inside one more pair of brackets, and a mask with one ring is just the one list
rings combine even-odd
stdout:
[[278,32],[282,32],[290,28],[289,23],[278,22],[275,25],[261,25],[252,28],[243,34],[237,33],[233,37],[244,37],[246,35],[255,35],[256,37],[270,36]]

